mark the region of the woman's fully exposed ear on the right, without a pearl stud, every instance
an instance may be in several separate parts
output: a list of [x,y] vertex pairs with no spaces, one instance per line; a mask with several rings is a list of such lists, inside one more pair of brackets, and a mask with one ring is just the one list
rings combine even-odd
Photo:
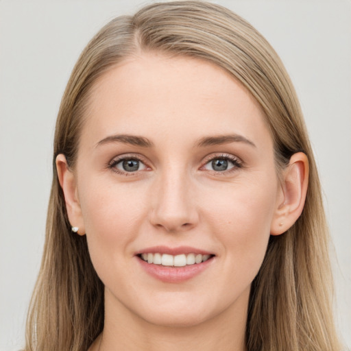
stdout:
[[289,165],[282,171],[278,189],[276,211],[271,222],[271,235],[286,232],[300,217],[304,208],[308,186],[308,159],[298,152],[290,158]]

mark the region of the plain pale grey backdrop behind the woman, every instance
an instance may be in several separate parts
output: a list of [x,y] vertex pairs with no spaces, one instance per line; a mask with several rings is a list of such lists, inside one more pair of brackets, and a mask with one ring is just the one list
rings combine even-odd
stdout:
[[[222,0],[273,45],[315,150],[335,244],[336,320],[351,346],[351,2]],[[24,345],[51,183],[56,114],[80,51],[149,1],[0,0],[0,350]]]

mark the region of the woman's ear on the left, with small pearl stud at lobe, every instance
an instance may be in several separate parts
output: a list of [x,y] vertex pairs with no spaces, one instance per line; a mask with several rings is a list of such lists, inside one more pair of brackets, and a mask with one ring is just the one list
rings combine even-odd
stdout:
[[75,175],[66,161],[63,154],[56,157],[56,169],[58,171],[58,180],[64,193],[64,201],[66,202],[67,215],[72,227],[77,227],[77,234],[84,235],[84,221],[82,210],[80,208],[80,201],[77,195],[77,184],[75,182]]

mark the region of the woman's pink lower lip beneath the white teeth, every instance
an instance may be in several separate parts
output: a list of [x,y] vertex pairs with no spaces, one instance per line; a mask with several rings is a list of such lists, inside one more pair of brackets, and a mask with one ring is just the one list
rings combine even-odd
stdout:
[[199,275],[213,263],[213,257],[202,263],[195,263],[194,265],[186,265],[183,267],[166,267],[162,265],[154,265],[147,263],[140,257],[136,256],[141,267],[145,269],[147,274],[162,281],[162,282],[184,282]]

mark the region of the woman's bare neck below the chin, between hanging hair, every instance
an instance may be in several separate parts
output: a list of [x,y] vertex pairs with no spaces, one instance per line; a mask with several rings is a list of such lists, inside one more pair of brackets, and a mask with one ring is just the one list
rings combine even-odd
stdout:
[[232,306],[196,325],[160,326],[141,319],[121,304],[105,302],[102,338],[91,351],[245,351],[245,326],[249,291]]

